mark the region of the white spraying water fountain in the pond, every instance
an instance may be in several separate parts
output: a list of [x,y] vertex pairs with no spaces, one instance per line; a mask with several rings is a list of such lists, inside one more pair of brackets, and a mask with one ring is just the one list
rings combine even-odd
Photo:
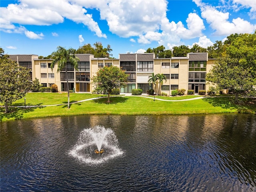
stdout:
[[104,126],[94,126],[80,132],[78,141],[69,154],[79,162],[100,164],[121,156],[118,140],[113,130]]

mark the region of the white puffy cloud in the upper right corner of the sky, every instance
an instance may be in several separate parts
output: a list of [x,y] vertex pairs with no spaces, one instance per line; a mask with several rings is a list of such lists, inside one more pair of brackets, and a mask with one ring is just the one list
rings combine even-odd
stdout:
[[255,24],[242,19],[235,18],[230,22],[229,12],[221,12],[216,7],[202,3],[201,0],[194,0],[197,6],[201,9],[202,18],[210,24],[210,27],[215,30],[214,35],[224,36],[234,33],[252,33],[256,29]]

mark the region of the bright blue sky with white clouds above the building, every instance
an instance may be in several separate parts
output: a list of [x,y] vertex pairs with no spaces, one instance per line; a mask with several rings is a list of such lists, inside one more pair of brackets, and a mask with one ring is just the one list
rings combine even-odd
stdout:
[[256,0],[0,0],[5,54],[48,56],[58,46],[109,44],[112,57],[198,44],[256,30]]

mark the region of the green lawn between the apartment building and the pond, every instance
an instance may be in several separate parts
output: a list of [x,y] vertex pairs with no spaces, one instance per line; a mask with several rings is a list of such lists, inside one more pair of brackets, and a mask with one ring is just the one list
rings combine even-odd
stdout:
[[[96,94],[70,94],[70,101],[84,100],[104,95]],[[160,96],[159,96],[160,97]],[[161,97],[168,98],[168,97]],[[184,98],[184,97],[174,97]],[[107,103],[107,98],[99,98],[70,105],[67,108],[67,94],[58,93],[28,93],[26,102],[28,105],[41,105],[34,108],[12,107],[12,112],[5,114],[4,108],[0,108],[1,121],[25,119],[25,118],[42,118],[52,116],[69,116],[85,114],[114,114],[114,115],[181,115],[181,114],[215,114],[215,113],[256,113],[256,100],[251,98],[240,98],[241,104],[234,104],[232,97],[206,97],[190,101],[160,101],[152,98],[133,97],[133,96],[116,96],[110,98],[111,102]],[[61,106],[47,106],[49,104],[61,104]],[[13,105],[24,105],[24,99],[16,101]]]

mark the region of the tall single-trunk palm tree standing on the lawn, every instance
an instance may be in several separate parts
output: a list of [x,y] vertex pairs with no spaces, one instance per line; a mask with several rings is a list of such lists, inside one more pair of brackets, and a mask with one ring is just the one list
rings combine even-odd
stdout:
[[58,69],[57,72],[62,71],[65,69],[66,72],[66,80],[67,80],[67,89],[68,89],[68,109],[70,108],[69,105],[69,86],[68,86],[68,69],[67,69],[67,64],[70,63],[71,66],[74,66],[76,70],[78,70],[78,61],[79,58],[76,57],[75,55],[76,50],[69,48],[68,50],[58,46],[57,50],[52,52],[52,56],[54,56],[54,61],[51,64],[51,68],[53,69],[54,65],[58,63]]

